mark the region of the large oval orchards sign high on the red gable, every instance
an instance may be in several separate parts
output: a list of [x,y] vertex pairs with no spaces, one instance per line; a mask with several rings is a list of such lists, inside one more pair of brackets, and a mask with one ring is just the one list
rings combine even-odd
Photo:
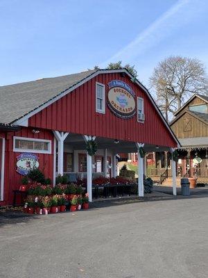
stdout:
[[136,113],[135,92],[120,80],[108,83],[107,106],[117,117],[128,119]]

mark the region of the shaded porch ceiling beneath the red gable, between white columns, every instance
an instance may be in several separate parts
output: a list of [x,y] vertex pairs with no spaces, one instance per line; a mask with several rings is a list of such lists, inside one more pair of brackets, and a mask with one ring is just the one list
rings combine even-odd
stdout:
[[[115,139],[96,137],[98,149],[111,149],[115,154],[137,152],[135,142],[120,140],[118,143],[115,143]],[[80,134],[70,133],[64,140],[64,144],[70,145],[75,150],[86,149],[85,141]],[[170,150],[169,147],[157,147],[149,144],[145,144],[144,149],[146,152],[167,152]]]

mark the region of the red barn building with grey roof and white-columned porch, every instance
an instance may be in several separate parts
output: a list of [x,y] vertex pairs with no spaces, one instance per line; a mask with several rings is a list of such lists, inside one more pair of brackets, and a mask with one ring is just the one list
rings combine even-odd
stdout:
[[[21,178],[40,167],[56,174],[116,176],[116,154],[138,152],[139,195],[144,195],[143,158],[159,147],[180,147],[148,90],[127,70],[89,70],[0,88],[0,204],[11,204]],[[90,156],[88,140],[98,152]]]

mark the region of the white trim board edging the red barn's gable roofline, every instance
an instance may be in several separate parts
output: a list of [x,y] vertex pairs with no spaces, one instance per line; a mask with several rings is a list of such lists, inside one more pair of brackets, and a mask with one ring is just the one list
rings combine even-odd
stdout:
[[[24,115],[23,117],[19,118],[19,120],[15,120],[15,122],[12,122],[12,124],[16,124],[16,125],[20,125],[22,122],[25,122],[29,117],[32,117],[33,115],[35,115],[36,113],[42,111],[44,108],[48,107],[49,105],[53,104],[55,101],[58,101],[58,99],[61,99],[62,97],[64,97],[65,95],[69,94],[69,92],[72,92],[73,90],[75,90],[76,88],[80,87],[81,85],[83,85],[84,83],[86,83],[87,81],[93,79],[94,77],[96,77],[98,74],[110,74],[110,73],[122,73],[125,72],[125,74],[127,74],[130,79],[133,78],[133,76],[125,69],[121,69],[121,70],[97,70],[96,72],[94,72],[94,74],[90,74],[87,78],[83,79],[82,81],[80,81],[79,83],[72,85],[71,88],[69,88],[68,90],[64,90],[64,92],[60,92],[59,95],[57,95],[56,97],[54,97],[53,99],[47,101],[45,104],[43,104],[42,106],[39,106],[37,108],[34,108],[33,111],[29,112],[27,115]],[[137,83],[137,85],[139,85],[139,87],[144,90],[144,92],[146,92],[146,94],[148,95],[151,103],[153,104],[153,106],[155,107],[157,113],[159,114],[159,116],[161,117],[162,121],[164,122],[164,124],[166,125],[166,128],[168,129],[168,131],[171,133],[171,135],[173,136],[173,138],[175,139],[175,142],[177,142],[177,147],[180,147],[180,142],[177,140],[175,134],[173,133],[173,131],[171,130],[170,126],[168,126],[168,123],[166,122],[166,120],[164,119],[162,113],[159,111],[159,108],[157,107],[157,105],[155,104],[155,101],[153,100],[153,97],[150,95],[150,92],[148,92],[148,90],[144,87],[144,85],[142,85],[137,79],[135,81],[135,83]]]

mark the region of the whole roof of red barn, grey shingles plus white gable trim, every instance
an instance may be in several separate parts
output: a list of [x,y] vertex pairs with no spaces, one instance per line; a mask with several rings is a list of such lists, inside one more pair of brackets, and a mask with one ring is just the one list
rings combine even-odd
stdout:
[[[53,78],[39,79],[25,83],[17,83],[14,85],[6,85],[0,87],[0,123],[23,125],[28,117],[31,117],[42,111],[42,109],[53,104],[64,95],[75,90],[80,85],[94,78],[98,74],[107,73],[125,73],[130,79],[134,80],[139,87],[146,92],[157,113],[164,122],[166,128],[173,136],[177,147],[180,142],[177,140],[172,129],[164,119],[161,111],[155,104],[150,92],[135,79],[125,68],[121,70],[89,70],[78,74],[69,74]],[[9,113],[8,113],[9,111]]]

